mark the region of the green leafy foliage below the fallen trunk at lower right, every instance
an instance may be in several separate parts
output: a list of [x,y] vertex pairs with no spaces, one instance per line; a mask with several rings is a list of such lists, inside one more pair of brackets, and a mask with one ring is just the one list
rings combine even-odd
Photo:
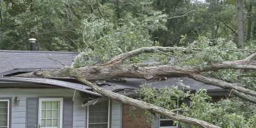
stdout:
[[[151,85],[142,85],[137,92],[143,95],[141,99],[143,101],[169,110],[181,108],[179,114],[201,119],[220,127],[255,127],[256,105],[239,98],[223,98],[213,102],[207,95],[207,90],[200,89],[195,93],[190,93],[180,90],[177,86],[156,90]],[[190,104],[182,103],[177,106],[177,102],[179,103],[184,98],[189,98]],[[145,114],[147,114],[145,117],[148,123],[153,122],[154,116],[148,111],[145,111]],[[181,123],[181,125],[187,126],[188,124]]]

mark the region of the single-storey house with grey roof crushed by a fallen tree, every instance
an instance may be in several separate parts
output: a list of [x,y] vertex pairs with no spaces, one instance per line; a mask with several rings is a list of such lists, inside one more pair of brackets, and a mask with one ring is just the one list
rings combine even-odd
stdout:
[[[36,70],[70,66],[79,53],[54,51],[0,50],[0,127],[4,128],[133,128],[179,127],[170,119],[159,119],[147,126],[142,111],[137,119],[129,116],[129,105],[109,100],[92,88],[68,78],[12,77]],[[142,83],[156,87],[173,85],[178,77],[166,80],[125,79],[97,83],[122,95],[136,96],[134,89]],[[227,95],[223,89],[179,77],[190,90],[208,89],[211,96]],[[159,86],[158,86],[159,85]]]

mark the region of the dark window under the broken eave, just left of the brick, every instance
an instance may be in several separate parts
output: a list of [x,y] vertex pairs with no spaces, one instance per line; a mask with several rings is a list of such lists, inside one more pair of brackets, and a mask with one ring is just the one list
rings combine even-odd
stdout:
[[88,106],[88,128],[109,127],[109,100]]

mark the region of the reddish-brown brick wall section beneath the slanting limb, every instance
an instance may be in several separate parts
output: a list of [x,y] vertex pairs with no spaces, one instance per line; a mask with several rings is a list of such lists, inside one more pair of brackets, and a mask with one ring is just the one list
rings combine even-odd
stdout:
[[136,109],[134,113],[136,119],[132,119],[132,116],[130,116],[130,105],[122,105],[122,128],[150,128],[143,117],[142,109]]

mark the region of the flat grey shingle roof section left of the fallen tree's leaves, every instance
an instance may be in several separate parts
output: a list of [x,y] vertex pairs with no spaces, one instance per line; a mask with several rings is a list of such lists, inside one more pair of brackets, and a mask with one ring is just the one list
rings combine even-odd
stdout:
[[70,66],[75,52],[0,50],[0,76]]

